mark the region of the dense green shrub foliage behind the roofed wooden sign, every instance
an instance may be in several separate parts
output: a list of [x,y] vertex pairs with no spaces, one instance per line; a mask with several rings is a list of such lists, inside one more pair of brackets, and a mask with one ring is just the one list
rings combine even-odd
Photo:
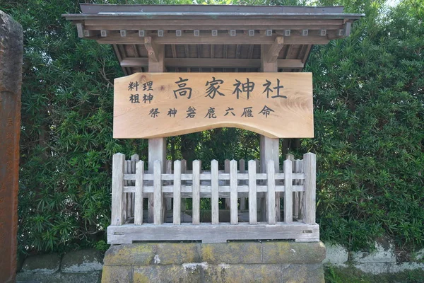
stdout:
[[[423,0],[396,8],[382,0],[300,2],[242,4],[346,4],[347,12],[367,14],[351,37],[314,47],[306,68],[314,73],[315,138],[292,150],[318,156],[322,239],[357,249],[389,235],[399,247],[423,246]],[[112,154],[147,157],[146,141],[112,139],[113,79],[122,71],[110,46],[79,39],[61,18],[78,13],[78,1],[0,0],[0,8],[25,37],[20,252],[104,249]],[[240,129],[172,137],[168,149],[170,158],[204,164],[259,158],[257,135]]]

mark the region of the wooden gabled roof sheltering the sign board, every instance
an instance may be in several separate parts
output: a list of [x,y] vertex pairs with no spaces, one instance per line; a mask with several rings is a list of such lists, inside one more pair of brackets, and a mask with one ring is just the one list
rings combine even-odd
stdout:
[[341,6],[80,6],[63,16],[79,37],[112,45],[126,75],[147,71],[152,45],[165,45],[170,72],[259,71],[261,46],[273,48],[278,71],[302,71],[313,45],[347,37],[364,16]]

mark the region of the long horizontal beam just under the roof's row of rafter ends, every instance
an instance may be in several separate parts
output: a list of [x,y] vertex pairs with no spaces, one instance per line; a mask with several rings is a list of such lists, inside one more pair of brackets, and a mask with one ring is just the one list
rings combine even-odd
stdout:
[[[319,31],[317,30],[317,33]],[[279,35],[281,36],[281,35]],[[289,37],[284,38],[284,44],[286,45],[325,45],[329,42],[329,36],[336,36],[336,32],[329,33],[327,30],[327,36],[319,35],[290,35]],[[183,34],[179,37],[175,34],[168,33],[163,37],[152,36],[152,40],[156,45],[194,45],[194,44],[214,44],[214,45],[230,45],[230,44],[240,44],[240,45],[272,45],[276,41],[278,35],[266,36],[266,35],[255,35],[249,36],[245,34],[230,36],[228,34],[218,34],[217,36],[212,36],[210,34],[201,33],[199,36],[193,36],[189,34]],[[126,37],[121,37],[119,34],[113,34],[107,37],[97,37],[96,40],[101,44],[143,44],[143,37],[139,37],[138,34],[127,34]]]

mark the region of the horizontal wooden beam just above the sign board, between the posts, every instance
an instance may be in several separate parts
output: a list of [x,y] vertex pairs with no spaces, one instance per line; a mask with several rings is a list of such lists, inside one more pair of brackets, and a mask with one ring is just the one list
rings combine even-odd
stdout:
[[[213,45],[212,45],[213,46]],[[278,68],[302,69],[301,59],[278,59]],[[146,67],[148,58],[125,58],[121,67]],[[259,68],[261,59],[220,59],[220,58],[165,58],[167,67],[208,67],[208,68]]]

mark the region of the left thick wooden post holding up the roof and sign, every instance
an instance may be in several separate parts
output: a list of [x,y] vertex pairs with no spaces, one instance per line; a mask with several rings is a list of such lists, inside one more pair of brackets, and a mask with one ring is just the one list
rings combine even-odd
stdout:
[[[144,45],[148,50],[149,73],[162,73],[165,71],[165,45],[155,45],[151,37],[144,37]],[[148,173],[153,173],[153,163],[158,160],[165,171],[166,139],[148,139]],[[148,222],[153,222],[153,194],[148,197]]]

